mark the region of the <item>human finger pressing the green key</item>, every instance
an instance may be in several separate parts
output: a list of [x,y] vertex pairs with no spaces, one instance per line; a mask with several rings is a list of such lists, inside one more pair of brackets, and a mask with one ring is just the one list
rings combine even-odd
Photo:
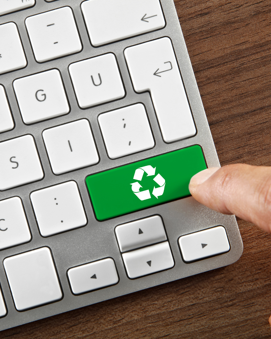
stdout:
[[189,191],[212,210],[235,214],[271,233],[271,167],[208,168],[191,178]]

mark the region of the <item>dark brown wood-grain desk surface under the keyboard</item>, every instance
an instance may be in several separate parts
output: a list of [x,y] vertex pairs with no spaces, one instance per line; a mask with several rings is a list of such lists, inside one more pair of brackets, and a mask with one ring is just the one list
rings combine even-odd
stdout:
[[[271,165],[271,1],[175,0],[221,165]],[[1,338],[271,338],[271,235],[237,219],[234,264],[1,332]]]

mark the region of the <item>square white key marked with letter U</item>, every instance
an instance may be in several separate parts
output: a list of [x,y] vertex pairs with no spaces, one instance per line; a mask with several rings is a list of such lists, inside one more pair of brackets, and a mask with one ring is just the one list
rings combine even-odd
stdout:
[[72,63],[69,73],[81,108],[125,96],[117,59],[112,53]]

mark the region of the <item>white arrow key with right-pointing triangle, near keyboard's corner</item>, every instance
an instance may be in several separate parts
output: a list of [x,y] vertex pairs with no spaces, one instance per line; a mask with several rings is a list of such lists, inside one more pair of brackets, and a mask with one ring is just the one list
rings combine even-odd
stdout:
[[188,263],[230,250],[227,233],[223,226],[181,236],[179,245],[183,259]]

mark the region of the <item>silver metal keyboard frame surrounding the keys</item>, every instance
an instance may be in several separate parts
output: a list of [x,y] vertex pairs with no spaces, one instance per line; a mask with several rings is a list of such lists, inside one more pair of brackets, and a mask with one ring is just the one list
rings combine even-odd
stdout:
[[[6,89],[16,123],[16,126],[12,131],[0,134],[0,141],[11,139],[24,134],[32,134],[36,140],[38,152],[45,173],[45,177],[41,181],[0,192],[0,199],[13,196],[19,196],[22,198],[26,216],[29,222],[29,227],[32,233],[32,240],[30,242],[0,251],[0,260],[2,262],[5,257],[38,247],[48,246],[51,248],[53,253],[58,275],[61,281],[61,286],[64,292],[64,298],[61,301],[40,306],[32,310],[18,312],[16,311],[13,303],[3,265],[0,265],[0,283],[8,310],[7,315],[0,319],[0,330],[49,317],[110,298],[115,298],[124,294],[142,290],[144,288],[149,288],[176,279],[181,279],[208,270],[213,270],[217,267],[229,265],[238,260],[243,252],[243,243],[235,217],[226,216],[211,211],[209,208],[196,202],[192,197],[154,206],[142,211],[137,211],[102,222],[96,220],[85,186],[85,177],[91,173],[100,172],[108,168],[121,166],[130,162],[153,157],[194,144],[200,144],[202,146],[208,167],[220,166],[220,164],[216,155],[212,136],[200,98],[200,93],[197,88],[193,69],[189,60],[173,1],[161,0],[166,18],[165,28],[137,37],[110,43],[101,47],[93,47],[89,42],[87,30],[80,9],[80,3],[80,0],[59,0],[54,2],[36,0],[36,5],[32,8],[24,9],[12,14],[6,14],[0,17],[0,24],[13,21],[18,25],[19,33],[28,61],[28,65],[24,69],[0,75],[0,84],[4,85]],[[51,9],[63,7],[66,5],[72,7],[74,11],[80,37],[82,39],[83,50],[80,53],[62,57],[60,59],[47,61],[44,63],[37,63],[34,59],[32,48],[27,36],[24,24],[25,18],[30,15],[46,12]],[[170,144],[165,143],[162,139],[149,93],[137,94],[134,92],[123,55],[123,51],[127,46],[164,36],[168,36],[172,40],[197,128],[197,134],[194,137]],[[67,67],[72,62],[108,52],[114,53],[117,57],[126,89],[126,96],[123,99],[105,103],[96,107],[80,109],[76,101]],[[61,117],[38,122],[33,125],[25,125],[21,119],[12,87],[12,81],[16,78],[42,72],[51,68],[58,68],[61,72],[71,111],[69,114]],[[112,109],[130,105],[136,102],[142,102],[146,106],[155,139],[155,146],[147,151],[111,160],[106,154],[106,149],[98,125],[97,117],[102,112],[110,111]],[[100,162],[97,165],[79,169],[74,172],[69,172],[62,175],[54,175],[51,171],[45,151],[45,146],[41,136],[42,131],[45,128],[53,127],[81,118],[87,118],[90,121],[93,135],[98,147]],[[78,183],[88,218],[88,223],[85,227],[43,238],[38,231],[34,213],[29,200],[29,193],[34,190],[38,190],[39,188],[62,183],[68,180],[75,180]],[[167,271],[130,280],[125,273],[117,240],[114,235],[114,228],[118,224],[154,214],[159,214],[163,218],[175,260],[175,266]],[[231,245],[230,251],[226,254],[218,255],[194,263],[184,263],[181,258],[177,243],[178,238],[181,235],[203,230],[215,225],[223,225],[226,228]],[[120,277],[119,283],[117,285],[86,293],[80,296],[73,295],[70,291],[66,277],[66,271],[68,268],[105,257],[112,257],[115,260]]]

